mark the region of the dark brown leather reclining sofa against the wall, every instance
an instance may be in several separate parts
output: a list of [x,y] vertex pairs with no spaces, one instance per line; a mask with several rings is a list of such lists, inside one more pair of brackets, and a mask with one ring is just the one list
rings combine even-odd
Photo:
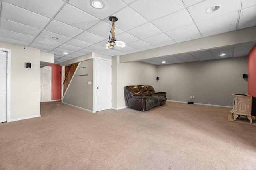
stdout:
[[152,86],[126,86],[124,87],[129,107],[139,111],[146,111],[164,105],[166,92],[156,93]]

